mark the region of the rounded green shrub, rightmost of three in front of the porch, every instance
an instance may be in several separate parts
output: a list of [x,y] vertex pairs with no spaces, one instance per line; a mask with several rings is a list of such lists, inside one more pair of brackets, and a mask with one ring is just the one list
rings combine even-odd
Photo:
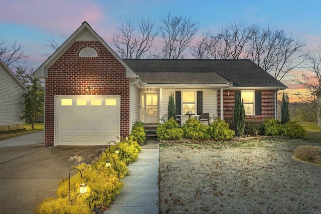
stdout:
[[213,140],[229,140],[234,136],[234,132],[229,128],[229,124],[220,118],[217,118],[210,124],[208,133]]

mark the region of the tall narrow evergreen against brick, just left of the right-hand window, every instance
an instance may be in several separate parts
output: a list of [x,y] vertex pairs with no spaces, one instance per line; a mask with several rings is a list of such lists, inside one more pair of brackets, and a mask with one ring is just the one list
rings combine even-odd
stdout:
[[236,93],[235,106],[234,106],[234,127],[235,135],[241,136],[244,133],[245,127],[245,109],[243,105],[243,99]]

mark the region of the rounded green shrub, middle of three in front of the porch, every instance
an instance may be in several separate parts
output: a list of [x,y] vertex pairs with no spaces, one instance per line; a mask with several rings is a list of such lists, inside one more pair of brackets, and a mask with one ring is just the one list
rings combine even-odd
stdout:
[[191,118],[186,121],[183,126],[184,138],[192,140],[209,139],[207,126],[204,126],[196,118]]

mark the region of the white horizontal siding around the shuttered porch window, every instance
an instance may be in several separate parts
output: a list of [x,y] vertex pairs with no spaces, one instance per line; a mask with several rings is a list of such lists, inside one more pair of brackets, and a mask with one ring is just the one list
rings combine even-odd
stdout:
[[[169,102],[169,96],[170,92],[175,91],[203,91],[203,113],[209,113],[210,117],[213,117],[213,115],[217,116],[217,90],[216,89],[178,89],[178,88],[163,88],[163,94],[162,96],[162,103],[161,103],[161,116],[166,116],[168,114],[168,102]],[[197,102],[196,102],[197,105]],[[196,107],[197,108],[197,107]],[[184,122],[188,119],[188,115],[182,116],[182,125]]]

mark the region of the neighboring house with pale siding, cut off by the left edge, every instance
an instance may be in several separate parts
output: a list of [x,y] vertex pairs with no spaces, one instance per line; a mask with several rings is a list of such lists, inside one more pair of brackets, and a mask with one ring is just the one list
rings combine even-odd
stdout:
[[24,129],[24,84],[0,60],[0,131]]

